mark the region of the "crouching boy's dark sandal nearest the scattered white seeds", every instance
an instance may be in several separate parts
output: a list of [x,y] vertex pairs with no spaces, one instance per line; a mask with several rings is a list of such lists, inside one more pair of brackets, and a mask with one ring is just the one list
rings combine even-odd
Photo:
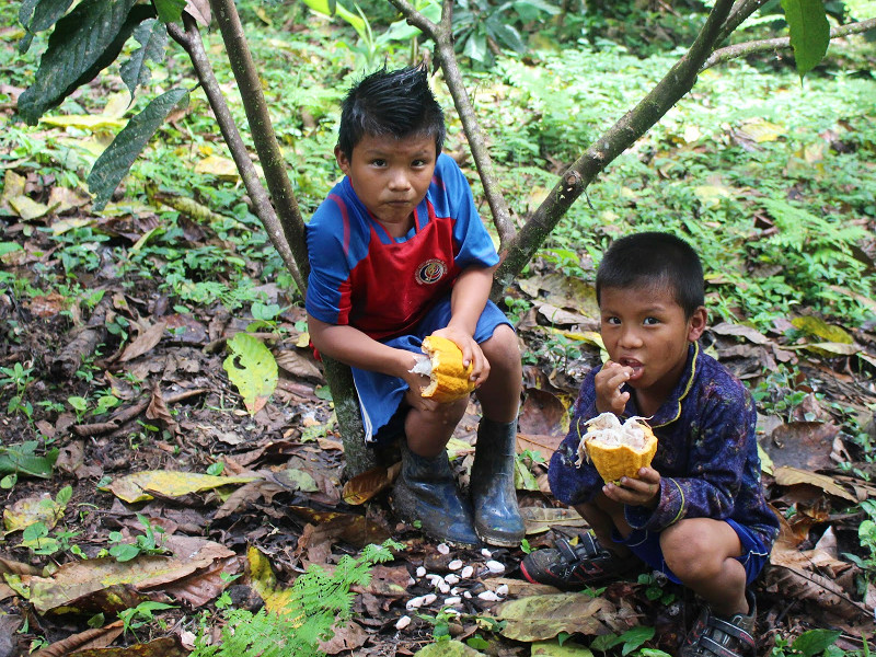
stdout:
[[636,565],[635,557],[622,560],[602,548],[590,533],[578,535],[578,544],[560,539],[556,548],[527,554],[520,572],[532,584],[549,584],[563,590],[581,590],[615,579]]

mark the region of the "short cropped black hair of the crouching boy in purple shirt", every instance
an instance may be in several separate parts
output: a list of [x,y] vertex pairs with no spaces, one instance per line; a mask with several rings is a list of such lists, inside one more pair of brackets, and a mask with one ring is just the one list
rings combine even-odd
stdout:
[[666,286],[690,319],[704,306],[703,265],[681,238],[664,232],[641,232],[614,242],[596,274],[596,300],[606,288]]

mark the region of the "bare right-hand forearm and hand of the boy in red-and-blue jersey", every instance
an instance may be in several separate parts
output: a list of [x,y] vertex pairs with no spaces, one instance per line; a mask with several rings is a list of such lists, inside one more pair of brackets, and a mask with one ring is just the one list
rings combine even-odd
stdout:
[[472,381],[482,383],[489,373],[489,364],[474,339],[477,320],[484,311],[493,286],[495,267],[470,266],[462,270],[450,296],[450,322],[445,328],[436,331],[462,351],[462,360],[472,364]]

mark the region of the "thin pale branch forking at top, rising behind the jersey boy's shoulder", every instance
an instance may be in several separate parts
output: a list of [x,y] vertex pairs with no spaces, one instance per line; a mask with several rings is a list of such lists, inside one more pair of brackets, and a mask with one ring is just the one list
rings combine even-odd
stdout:
[[489,150],[486,147],[486,138],[477,122],[477,115],[465,90],[462,73],[457,62],[457,55],[453,51],[452,1],[445,0],[441,9],[440,25],[436,25],[426,19],[406,0],[390,0],[390,2],[402,12],[411,25],[418,27],[435,42],[436,55],[445,74],[445,82],[450,90],[457,114],[459,114],[459,118],[462,122],[462,129],[465,132],[474,164],[477,168],[477,175],[481,176],[481,184],[484,187],[484,196],[486,196],[489,210],[493,214],[493,224],[499,235],[499,249],[505,251],[505,244],[514,238],[515,228],[511,222],[508,204],[505,201],[505,197],[496,182],[497,177],[493,168],[493,159],[489,157]]

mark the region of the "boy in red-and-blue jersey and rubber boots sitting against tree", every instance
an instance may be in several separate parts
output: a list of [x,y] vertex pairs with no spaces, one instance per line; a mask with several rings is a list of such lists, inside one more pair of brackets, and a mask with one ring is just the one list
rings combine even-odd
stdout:
[[[366,439],[404,437],[395,511],[457,545],[514,546],[523,538],[514,487],[520,353],[488,300],[498,255],[469,183],[441,154],[443,137],[424,67],[382,69],[349,91],[335,147],[346,177],[307,231],[308,326],[321,353],[351,367]],[[471,362],[483,411],[471,504],[445,449],[468,399],[424,399],[428,378],[412,372],[433,333]]]

